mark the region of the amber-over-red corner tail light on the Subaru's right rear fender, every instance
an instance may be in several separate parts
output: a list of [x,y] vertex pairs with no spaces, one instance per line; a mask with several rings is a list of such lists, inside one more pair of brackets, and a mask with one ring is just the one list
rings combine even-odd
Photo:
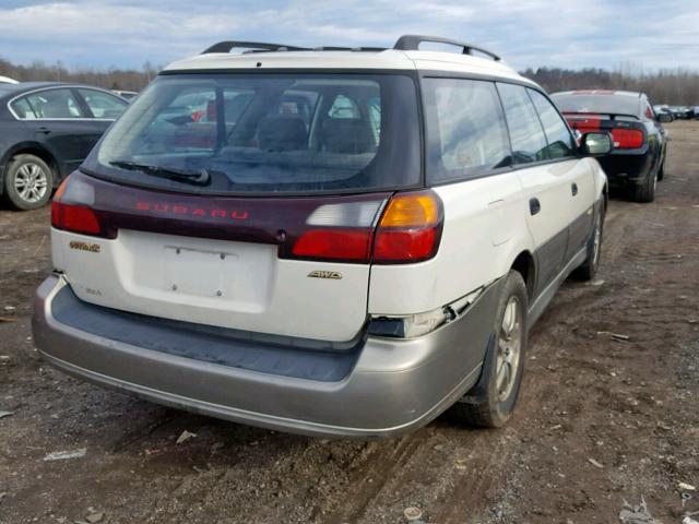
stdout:
[[422,262],[437,254],[442,207],[431,191],[398,193],[391,198],[374,240],[377,264]]

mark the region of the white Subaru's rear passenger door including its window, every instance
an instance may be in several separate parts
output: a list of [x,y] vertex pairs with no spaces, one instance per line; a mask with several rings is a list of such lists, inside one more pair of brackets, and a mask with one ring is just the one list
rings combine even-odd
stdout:
[[512,144],[512,159],[529,202],[526,222],[536,245],[537,293],[566,261],[570,217],[570,169],[552,163],[548,141],[526,88],[498,83]]

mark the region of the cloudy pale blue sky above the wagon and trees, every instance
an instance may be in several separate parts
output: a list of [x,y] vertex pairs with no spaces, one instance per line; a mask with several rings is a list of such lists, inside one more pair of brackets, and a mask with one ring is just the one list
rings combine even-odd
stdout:
[[224,39],[392,46],[402,34],[491,49],[518,70],[699,70],[699,0],[0,0],[0,58],[165,66]]

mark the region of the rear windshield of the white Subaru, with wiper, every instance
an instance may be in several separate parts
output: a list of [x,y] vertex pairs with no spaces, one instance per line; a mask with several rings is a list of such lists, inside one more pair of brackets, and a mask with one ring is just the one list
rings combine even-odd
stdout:
[[269,194],[412,187],[419,165],[407,75],[215,73],[158,76],[84,168],[161,189]]

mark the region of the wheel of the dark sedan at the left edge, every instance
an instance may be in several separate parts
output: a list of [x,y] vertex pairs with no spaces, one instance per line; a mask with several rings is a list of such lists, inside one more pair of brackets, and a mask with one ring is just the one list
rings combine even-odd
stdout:
[[38,156],[17,155],[4,171],[4,198],[17,210],[46,205],[54,189],[54,172]]

